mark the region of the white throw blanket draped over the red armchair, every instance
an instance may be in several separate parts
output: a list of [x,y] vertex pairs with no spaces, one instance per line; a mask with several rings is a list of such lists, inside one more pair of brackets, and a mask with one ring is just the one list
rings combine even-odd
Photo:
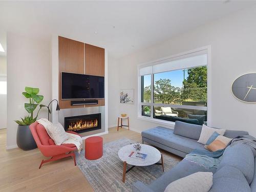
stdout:
[[[53,125],[52,122],[48,121],[45,118],[38,119],[38,120],[36,120],[36,122],[42,124],[45,127],[48,135],[55,141],[54,136],[53,136],[54,134],[51,133],[51,131],[54,130],[54,129],[52,129],[52,127],[56,126],[56,125]],[[68,140],[62,142],[61,144],[70,144],[70,143],[72,143],[72,144],[76,145],[77,151],[78,151],[78,153],[80,153],[81,150],[82,150],[82,139],[81,139],[81,137],[79,135],[75,135],[75,134],[71,134],[71,133],[66,133],[66,134],[68,136]]]

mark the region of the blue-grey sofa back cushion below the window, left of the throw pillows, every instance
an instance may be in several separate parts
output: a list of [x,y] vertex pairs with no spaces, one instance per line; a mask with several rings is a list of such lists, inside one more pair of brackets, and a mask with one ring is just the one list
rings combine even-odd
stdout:
[[174,134],[196,140],[199,139],[201,130],[201,125],[190,124],[181,121],[176,121],[174,126]]

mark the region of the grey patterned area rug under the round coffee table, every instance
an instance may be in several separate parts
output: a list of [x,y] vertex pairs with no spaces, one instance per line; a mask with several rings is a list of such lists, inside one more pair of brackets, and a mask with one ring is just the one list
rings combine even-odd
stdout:
[[[96,192],[103,191],[132,191],[136,181],[150,184],[162,174],[161,165],[137,166],[126,174],[125,183],[122,182],[123,162],[118,157],[122,146],[135,143],[130,139],[119,139],[103,145],[103,156],[97,160],[84,158],[84,150],[76,154],[77,165]],[[165,172],[174,167],[179,160],[163,155]],[[127,165],[127,169],[131,165]]]

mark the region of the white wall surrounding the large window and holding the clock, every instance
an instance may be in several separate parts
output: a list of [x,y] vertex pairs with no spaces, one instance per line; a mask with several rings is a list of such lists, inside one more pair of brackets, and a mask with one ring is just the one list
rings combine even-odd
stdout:
[[[195,30],[180,34],[158,45],[126,56],[118,63],[119,85],[116,77],[110,79],[110,90],[137,89],[136,67],[140,63],[211,46],[211,126],[230,130],[246,130],[256,136],[256,104],[244,103],[234,98],[231,84],[234,79],[245,73],[256,72],[256,8],[242,10],[225,18],[216,20]],[[111,65],[113,63],[110,63]],[[115,64],[113,64],[115,65]],[[111,69],[111,66],[110,66]],[[135,91],[137,104],[137,90]],[[111,97],[110,97],[111,98]],[[110,101],[111,102],[111,101]],[[137,106],[129,104],[110,104],[109,111],[130,115],[133,129],[142,131],[156,126],[155,123],[139,120]],[[115,112],[116,113],[116,112]],[[110,122],[114,122],[111,117]]]

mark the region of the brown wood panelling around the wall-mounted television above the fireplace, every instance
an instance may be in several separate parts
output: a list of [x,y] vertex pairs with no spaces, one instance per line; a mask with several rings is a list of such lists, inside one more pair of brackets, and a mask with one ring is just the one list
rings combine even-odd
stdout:
[[105,50],[83,42],[59,36],[59,106],[60,109],[104,106],[105,99],[98,104],[71,105],[71,100],[61,100],[61,72],[104,76]]

